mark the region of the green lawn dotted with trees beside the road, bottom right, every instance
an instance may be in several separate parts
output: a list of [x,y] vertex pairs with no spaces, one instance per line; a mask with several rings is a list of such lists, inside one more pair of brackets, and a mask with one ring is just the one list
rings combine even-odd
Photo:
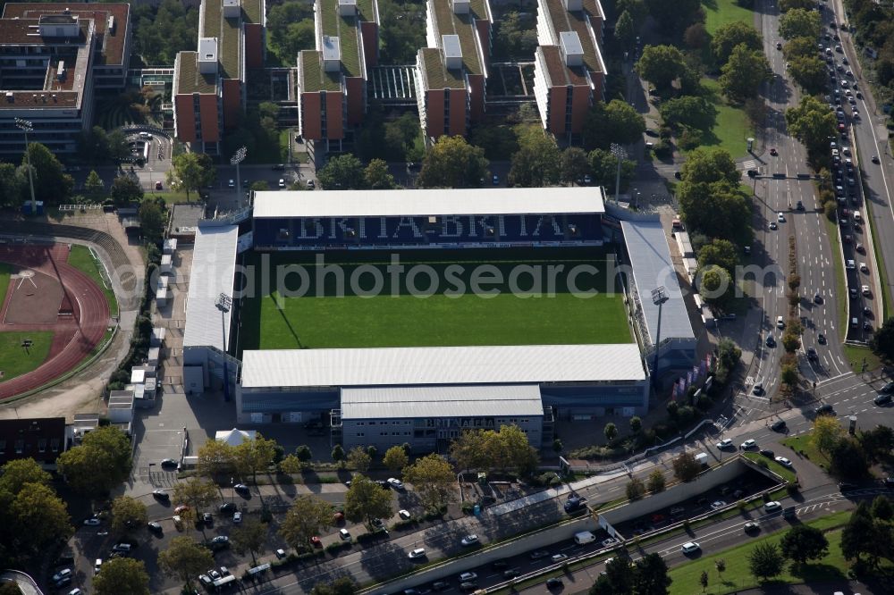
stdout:
[[[846,524],[849,517],[849,511],[842,511],[805,523],[826,532],[826,539],[829,540],[829,553],[822,559],[807,564],[805,569],[798,571],[797,574],[793,574],[790,566],[787,565],[785,572],[768,584],[834,581],[847,578],[850,565],[841,554],[841,530],[837,527]],[[747,540],[746,543],[710,556],[699,557],[697,560],[671,569],[669,573],[673,580],[671,595],[692,595],[703,592],[701,582],[699,582],[702,571],[708,573],[708,588],[704,592],[709,595],[722,595],[759,586],[760,583],[748,570],[748,554],[758,543],[767,541],[779,543],[782,535],[783,532],[780,531],[763,538],[751,539],[745,537],[743,533],[743,538]],[[726,570],[722,575],[717,573],[717,568],[714,566],[714,562],[719,558],[726,561]]]

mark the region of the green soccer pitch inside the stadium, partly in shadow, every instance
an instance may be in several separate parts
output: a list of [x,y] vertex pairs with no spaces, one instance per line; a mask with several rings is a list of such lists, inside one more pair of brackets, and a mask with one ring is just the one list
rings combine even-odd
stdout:
[[[240,350],[633,340],[623,294],[613,279],[607,279],[613,275],[607,272],[607,256],[601,248],[439,249],[406,251],[397,256],[404,271],[392,276],[387,268],[391,252],[326,253],[325,265],[336,264],[342,271],[345,290],[340,291],[332,271],[321,282],[316,254],[249,253],[244,264],[253,272],[254,282],[247,291],[250,297],[242,300]],[[305,277],[292,272],[280,285],[283,290],[277,291],[275,271],[282,272],[287,266],[302,267]],[[586,266],[598,272],[582,268]],[[375,289],[374,267],[384,284],[375,297],[358,296]],[[268,274],[266,285],[261,279],[262,269]],[[430,288],[433,277],[438,280],[433,295],[411,295],[409,278],[413,272],[412,284],[420,291]],[[352,276],[358,291],[351,291]],[[502,277],[502,282],[493,281],[496,277]],[[554,291],[548,291],[551,277]],[[573,277],[578,291],[596,293],[585,298],[569,292],[569,277]],[[535,279],[540,283],[538,287]],[[483,298],[472,293],[476,280],[479,287],[495,289],[497,295]],[[515,294],[510,291],[513,287],[518,289]],[[611,291],[606,290],[609,287]],[[301,290],[303,295],[296,297]],[[283,294],[291,297],[283,298]]]

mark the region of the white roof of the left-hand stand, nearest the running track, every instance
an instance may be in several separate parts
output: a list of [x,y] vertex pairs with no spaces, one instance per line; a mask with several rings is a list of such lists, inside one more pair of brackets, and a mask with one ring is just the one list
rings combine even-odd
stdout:
[[[190,295],[186,303],[186,328],[183,347],[214,347],[223,351],[223,336],[230,334],[230,312],[217,309],[217,298],[232,297],[236,271],[237,225],[199,226],[192,249]],[[223,328],[222,328],[223,324]]]

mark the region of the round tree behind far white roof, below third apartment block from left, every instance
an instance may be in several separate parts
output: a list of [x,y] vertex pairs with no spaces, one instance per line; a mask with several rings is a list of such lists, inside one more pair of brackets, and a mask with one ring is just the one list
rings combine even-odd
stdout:
[[460,136],[438,138],[428,149],[417,184],[421,188],[476,188],[487,175],[485,152]]

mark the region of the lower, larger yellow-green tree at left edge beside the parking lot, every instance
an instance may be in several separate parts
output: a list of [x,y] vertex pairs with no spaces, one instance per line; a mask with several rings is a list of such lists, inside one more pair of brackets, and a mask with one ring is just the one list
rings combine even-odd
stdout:
[[74,534],[72,517],[55,491],[43,483],[26,483],[6,509],[12,525],[13,549],[37,554],[50,543],[67,541]]

